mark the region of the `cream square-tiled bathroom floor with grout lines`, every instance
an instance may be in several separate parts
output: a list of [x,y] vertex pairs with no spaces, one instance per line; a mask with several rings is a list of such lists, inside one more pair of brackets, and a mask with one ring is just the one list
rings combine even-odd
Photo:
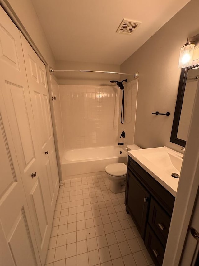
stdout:
[[66,180],[59,188],[46,265],[155,266],[125,211],[124,195],[112,193],[104,175]]

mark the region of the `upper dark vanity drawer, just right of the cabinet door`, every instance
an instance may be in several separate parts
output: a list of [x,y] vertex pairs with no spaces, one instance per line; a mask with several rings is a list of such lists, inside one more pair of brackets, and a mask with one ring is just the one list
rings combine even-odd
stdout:
[[151,197],[148,223],[166,247],[171,218],[160,205]]

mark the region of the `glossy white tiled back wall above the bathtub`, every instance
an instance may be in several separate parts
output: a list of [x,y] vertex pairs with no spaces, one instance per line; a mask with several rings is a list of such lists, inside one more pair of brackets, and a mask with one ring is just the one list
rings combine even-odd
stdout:
[[59,85],[65,149],[117,145],[116,86]]

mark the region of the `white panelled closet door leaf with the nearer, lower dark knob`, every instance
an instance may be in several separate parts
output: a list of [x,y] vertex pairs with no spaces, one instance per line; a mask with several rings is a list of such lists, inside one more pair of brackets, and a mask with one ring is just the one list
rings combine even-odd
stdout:
[[[51,193],[47,186],[48,177],[41,166],[36,134],[39,128],[34,123],[32,113],[20,32],[4,12],[3,14],[7,21],[4,22],[0,16],[0,21],[3,21],[0,27],[2,99],[12,132],[41,264],[44,265],[52,225]],[[16,201],[18,197],[20,198],[16,195]]]

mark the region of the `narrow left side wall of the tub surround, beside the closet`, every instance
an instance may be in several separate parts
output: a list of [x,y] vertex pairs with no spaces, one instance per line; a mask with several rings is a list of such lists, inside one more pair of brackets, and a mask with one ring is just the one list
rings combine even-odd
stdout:
[[63,127],[62,127],[62,114],[61,114],[61,104],[59,97],[59,87],[58,83],[53,75],[51,75],[51,86],[53,96],[56,96],[56,101],[53,101],[53,109],[55,114],[55,126],[57,132],[57,140],[58,140],[58,150],[59,150],[59,158],[60,161],[63,157],[64,152],[64,138],[63,138]]

